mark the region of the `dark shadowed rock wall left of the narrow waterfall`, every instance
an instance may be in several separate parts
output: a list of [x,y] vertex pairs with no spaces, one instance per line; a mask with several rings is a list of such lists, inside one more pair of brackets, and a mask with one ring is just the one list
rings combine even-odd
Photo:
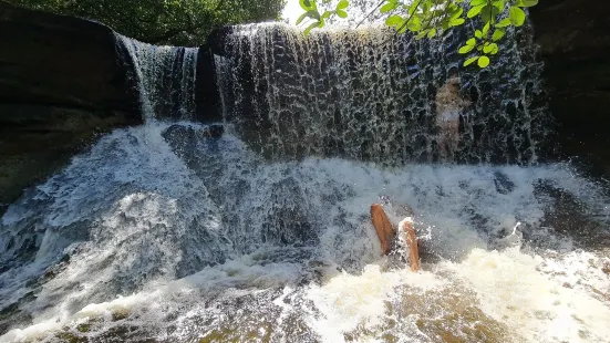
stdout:
[[0,1],[0,214],[96,133],[139,123],[113,31]]

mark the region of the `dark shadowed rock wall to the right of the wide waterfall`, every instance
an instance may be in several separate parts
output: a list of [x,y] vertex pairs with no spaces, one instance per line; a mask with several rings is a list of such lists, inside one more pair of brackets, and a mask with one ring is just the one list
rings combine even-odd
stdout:
[[546,0],[531,9],[558,138],[610,173],[610,2]]

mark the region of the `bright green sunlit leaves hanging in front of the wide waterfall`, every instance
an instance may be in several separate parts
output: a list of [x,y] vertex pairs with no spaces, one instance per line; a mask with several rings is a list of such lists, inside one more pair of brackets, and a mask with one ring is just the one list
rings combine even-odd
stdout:
[[[345,18],[350,6],[348,0],[341,0],[333,10],[320,14],[317,1],[328,4],[330,0],[299,1],[306,12],[297,24],[306,18],[310,19],[306,34],[314,28],[324,27],[325,20],[332,15]],[[417,40],[433,39],[451,28],[463,25],[466,20],[478,18],[478,22],[473,21],[473,28],[476,24],[480,28],[474,31],[458,52],[471,55],[464,61],[465,66],[477,62],[479,67],[486,67],[498,53],[498,41],[504,38],[507,28],[523,25],[526,20],[524,8],[537,3],[538,0],[382,0],[373,11],[379,10],[386,17],[386,25],[394,27],[399,33],[411,31]],[[468,9],[466,19],[465,9]]]

